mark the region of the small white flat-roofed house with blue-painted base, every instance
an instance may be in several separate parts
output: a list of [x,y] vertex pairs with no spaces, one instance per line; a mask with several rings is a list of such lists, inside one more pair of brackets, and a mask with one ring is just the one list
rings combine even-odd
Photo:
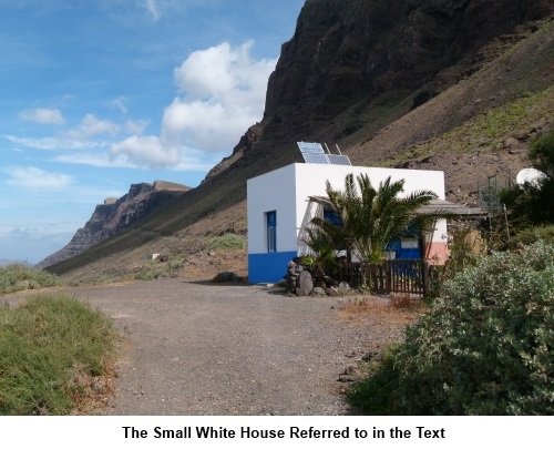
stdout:
[[[367,174],[377,187],[387,177],[404,180],[404,194],[430,190],[444,200],[444,173],[428,170],[380,169],[352,165],[296,163],[277,169],[247,182],[248,279],[275,283],[287,271],[287,264],[306,254],[302,229],[315,216],[310,197],[327,196],[326,182],[342,190],[345,177]],[[447,222],[437,223],[425,236],[422,255],[443,263],[447,252]],[[407,247],[413,242],[407,242]]]

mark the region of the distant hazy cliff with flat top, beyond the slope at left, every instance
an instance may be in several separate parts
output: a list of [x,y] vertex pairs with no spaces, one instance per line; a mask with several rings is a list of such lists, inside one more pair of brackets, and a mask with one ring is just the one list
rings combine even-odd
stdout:
[[132,226],[138,220],[189,191],[185,185],[155,181],[154,184],[132,184],[121,198],[106,198],[99,204],[84,227],[76,231],[62,249],[37,264],[48,267],[64,261]]

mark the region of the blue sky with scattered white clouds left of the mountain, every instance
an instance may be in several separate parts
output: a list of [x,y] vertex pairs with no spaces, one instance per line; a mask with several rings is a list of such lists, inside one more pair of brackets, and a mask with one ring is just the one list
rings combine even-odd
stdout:
[[130,184],[196,186],[264,111],[304,0],[0,0],[0,259]]

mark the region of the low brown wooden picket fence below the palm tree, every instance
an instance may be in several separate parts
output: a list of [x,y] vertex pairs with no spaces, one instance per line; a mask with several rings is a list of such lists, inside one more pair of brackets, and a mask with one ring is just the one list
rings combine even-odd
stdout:
[[427,296],[432,266],[423,259],[394,259],[381,264],[350,263],[340,268],[339,280],[350,287],[369,287],[373,294],[409,293]]

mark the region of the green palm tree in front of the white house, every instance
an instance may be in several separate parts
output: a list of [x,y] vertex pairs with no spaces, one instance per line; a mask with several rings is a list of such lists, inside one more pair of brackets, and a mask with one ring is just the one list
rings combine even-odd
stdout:
[[404,180],[391,182],[389,176],[376,190],[366,174],[356,181],[353,174],[348,174],[343,191],[334,190],[327,182],[329,202],[342,223],[334,224],[325,218],[314,218],[312,223],[338,249],[355,247],[362,262],[380,263],[389,242],[406,235],[411,222],[423,232],[437,220],[449,217],[445,213],[417,216],[416,211],[437,198],[437,194],[423,190],[399,197],[403,187]]

